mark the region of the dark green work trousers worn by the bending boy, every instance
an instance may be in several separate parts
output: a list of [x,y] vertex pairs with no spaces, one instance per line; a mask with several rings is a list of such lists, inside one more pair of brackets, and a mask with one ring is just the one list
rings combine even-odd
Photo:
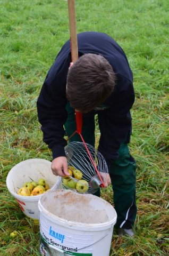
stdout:
[[[74,109],[67,103],[66,110],[68,113],[67,121],[64,124],[68,137],[76,130]],[[104,110],[103,110],[104,111]],[[102,133],[102,116],[103,111],[99,111],[98,117],[99,129]],[[83,116],[82,136],[86,143],[95,147],[95,116]],[[71,141],[80,141],[79,134],[73,135]],[[130,229],[134,225],[136,219],[136,162],[130,155],[128,145],[121,143],[119,148],[119,158],[111,163],[109,175],[113,187],[114,208],[117,213],[116,226],[120,228]],[[94,195],[100,196],[100,190]]]

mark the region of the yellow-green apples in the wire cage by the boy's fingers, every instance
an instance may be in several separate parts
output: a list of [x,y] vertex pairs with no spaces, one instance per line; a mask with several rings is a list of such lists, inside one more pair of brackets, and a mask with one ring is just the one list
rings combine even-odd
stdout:
[[70,177],[68,175],[63,177],[63,184],[68,188],[75,189],[79,193],[85,193],[89,189],[89,184],[86,180],[82,179],[82,172],[73,166],[68,166],[68,171]]

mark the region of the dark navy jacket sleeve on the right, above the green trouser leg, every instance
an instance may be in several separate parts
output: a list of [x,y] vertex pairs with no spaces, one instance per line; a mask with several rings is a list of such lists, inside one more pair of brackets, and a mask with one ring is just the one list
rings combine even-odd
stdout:
[[131,135],[130,109],[134,103],[133,85],[128,80],[120,78],[116,88],[111,107],[98,115],[101,133],[98,150],[104,156],[108,167],[119,157],[121,143],[129,143]]

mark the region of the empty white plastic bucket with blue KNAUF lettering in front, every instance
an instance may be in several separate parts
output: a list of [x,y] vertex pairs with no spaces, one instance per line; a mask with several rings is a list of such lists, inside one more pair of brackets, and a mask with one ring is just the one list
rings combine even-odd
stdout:
[[109,256],[117,214],[104,199],[61,189],[38,206],[41,255]]

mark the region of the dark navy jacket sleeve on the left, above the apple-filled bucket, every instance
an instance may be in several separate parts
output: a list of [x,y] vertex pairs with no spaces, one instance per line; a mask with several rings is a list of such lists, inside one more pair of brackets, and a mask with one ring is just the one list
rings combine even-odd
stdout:
[[43,141],[52,149],[53,158],[65,156],[64,123],[66,112],[66,76],[68,61],[58,67],[57,60],[50,68],[37,101],[38,119],[43,131]]

